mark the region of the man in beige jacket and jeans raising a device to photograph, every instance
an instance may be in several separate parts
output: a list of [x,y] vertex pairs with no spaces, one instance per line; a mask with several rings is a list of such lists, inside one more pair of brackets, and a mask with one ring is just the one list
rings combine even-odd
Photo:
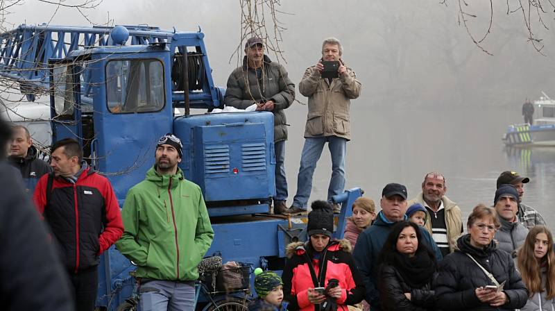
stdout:
[[[332,155],[332,178],[327,188],[327,201],[331,202],[332,196],[342,194],[345,187],[345,154],[347,142],[351,139],[350,100],[359,96],[361,83],[355,72],[345,66],[342,56],[341,42],[334,37],[327,38],[322,43],[322,58],[305,71],[299,83],[300,94],[308,97],[308,115],[305,145],[302,147],[297,176],[297,193],[289,208],[290,214],[307,210],[312,176],[326,142]],[[336,74],[332,72],[335,78],[322,77],[324,61],[337,66]],[[339,205],[334,205],[334,212],[341,212]]]

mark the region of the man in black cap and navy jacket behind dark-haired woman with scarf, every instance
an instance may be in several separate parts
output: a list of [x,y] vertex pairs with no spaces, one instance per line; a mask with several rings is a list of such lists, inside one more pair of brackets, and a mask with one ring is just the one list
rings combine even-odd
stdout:
[[[407,215],[405,215],[407,212],[407,187],[398,183],[388,183],[382,190],[382,199],[379,204],[382,206],[382,211],[378,213],[372,226],[359,235],[357,247],[352,254],[364,278],[366,286],[364,298],[370,304],[371,310],[382,310],[376,286],[378,256],[393,225],[398,221],[407,220]],[[436,255],[438,261],[441,260],[443,256],[432,239],[432,235],[426,228],[419,228],[427,247]]]

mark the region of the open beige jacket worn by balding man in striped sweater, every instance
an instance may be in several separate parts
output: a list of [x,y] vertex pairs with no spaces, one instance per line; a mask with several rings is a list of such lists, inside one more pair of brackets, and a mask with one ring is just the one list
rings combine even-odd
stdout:
[[[449,250],[450,253],[454,251],[454,246],[456,245],[456,239],[461,235],[461,228],[463,228],[463,214],[459,205],[456,205],[447,196],[441,198],[443,202],[443,208],[445,208],[445,225],[447,225],[447,237],[449,238]],[[414,203],[420,203],[422,206],[427,205],[422,196],[422,192],[416,196],[416,198],[411,199],[407,206],[411,206]],[[430,215],[426,209],[426,216],[428,221],[426,221],[425,227],[429,234],[432,235],[432,221],[429,221]]]

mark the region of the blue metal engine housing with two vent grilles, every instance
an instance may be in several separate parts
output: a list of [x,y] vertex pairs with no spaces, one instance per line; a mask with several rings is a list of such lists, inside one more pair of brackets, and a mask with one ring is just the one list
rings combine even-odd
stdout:
[[205,201],[275,195],[272,113],[195,115],[177,117],[173,124],[184,142],[180,167],[203,190]]

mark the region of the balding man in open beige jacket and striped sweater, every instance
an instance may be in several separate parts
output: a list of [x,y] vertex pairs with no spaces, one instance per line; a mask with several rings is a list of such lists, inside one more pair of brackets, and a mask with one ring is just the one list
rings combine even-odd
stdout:
[[447,196],[447,183],[441,173],[433,171],[426,174],[422,182],[422,192],[409,201],[420,203],[426,208],[425,228],[432,234],[443,256],[454,251],[454,241],[463,233],[463,216],[461,209]]

